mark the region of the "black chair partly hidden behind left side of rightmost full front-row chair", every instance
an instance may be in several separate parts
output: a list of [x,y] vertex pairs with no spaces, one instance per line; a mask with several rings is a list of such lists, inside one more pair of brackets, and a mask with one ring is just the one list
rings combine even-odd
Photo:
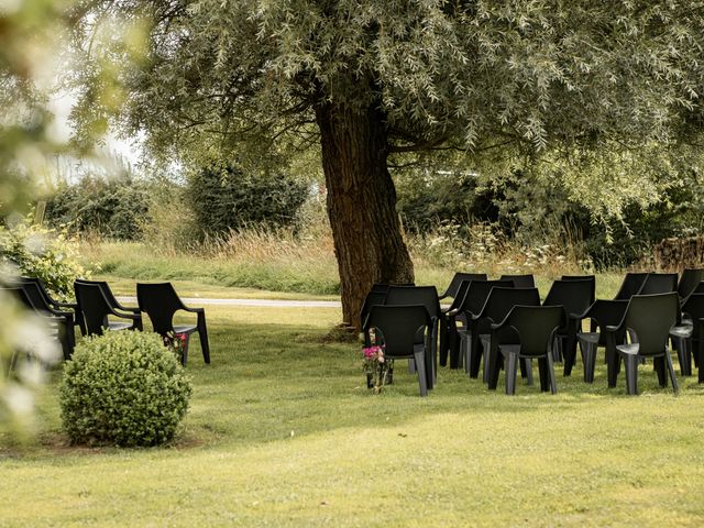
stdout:
[[[594,323],[591,332],[578,332],[576,340],[582,351],[582,362],[584,363],[584,382],[594,383],[594,369],[596,366],[596,352],[598,346],[606,346],[606,334],[604,329],[618,324],[626,315],[628,308],[627,300],[605,300],[597,299],[588,309],[579,315],[576,319],[591,319]],[[596,331],[598,330],[598,331]],[[617,341],[623,341],[623,334],[616,337]]]

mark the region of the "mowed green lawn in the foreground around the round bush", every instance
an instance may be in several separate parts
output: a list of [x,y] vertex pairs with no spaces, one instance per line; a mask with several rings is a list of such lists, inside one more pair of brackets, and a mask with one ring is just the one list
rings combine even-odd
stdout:
[[[0,451],[0,526],[702,526],[704,388],[640,369],[605,387],[558,370],[514,397],[441,369],[428,398],[405,362],[380,396],[334,309],[208,308],[174,446],[73,448],[55,381],[38,444]],[[197,340],[196,340],[197,341]],[[603,355],[602,355],[603,358]],[[57,376],[55,376],[57,377]]]

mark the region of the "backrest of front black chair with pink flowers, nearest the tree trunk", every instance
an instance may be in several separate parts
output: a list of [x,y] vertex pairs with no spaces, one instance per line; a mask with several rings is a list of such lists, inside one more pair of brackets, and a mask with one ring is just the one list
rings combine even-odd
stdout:
[[374,328],[381,333],[385,356],[408,358],[413,355],[414,345],[424,342],[430,324],[430,316],[422,305],[376,305],[370,311],[364,332]]

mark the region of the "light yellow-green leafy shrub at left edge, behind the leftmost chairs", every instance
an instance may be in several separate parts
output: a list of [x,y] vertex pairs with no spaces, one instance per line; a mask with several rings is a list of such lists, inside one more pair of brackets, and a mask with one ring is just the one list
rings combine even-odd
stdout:
[[66,230],[34,224],[31,217],[0,226],[0,261],[22,275],[41,278],[62,299],[74,295],[76,278],[89,275]]

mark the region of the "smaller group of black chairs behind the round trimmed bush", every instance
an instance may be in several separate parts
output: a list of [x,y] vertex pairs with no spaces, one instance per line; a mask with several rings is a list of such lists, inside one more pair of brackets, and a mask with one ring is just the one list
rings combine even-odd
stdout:
[[[62,302],[50,294],[41,279],[21,277],[16,285],[6,288],[14,293],[29,309],[41,315],[55,329],[65,360],[70,360],[76,344],[75,327],[82,336],[102,336],[105,331],[143,329],[145,312],[154,331],[165,338],[185,337],[182,364],[186,364],[190,336],[198,332],[204,360],[210,363],[210,346],[204,308],[189,308],[170,283],[138,284],[138,307],[123,306],[103,280],[77,279],[74,283],[76,302]],[[174,315],[184,310],[197,315],[196,324],[175,326]]]

